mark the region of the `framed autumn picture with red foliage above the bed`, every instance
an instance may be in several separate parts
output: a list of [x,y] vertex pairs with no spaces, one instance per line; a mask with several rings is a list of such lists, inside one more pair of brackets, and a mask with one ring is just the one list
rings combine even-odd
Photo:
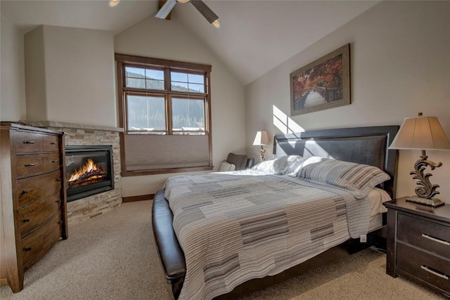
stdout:
[[350,44],[290,73],[290,115],[350,104]]

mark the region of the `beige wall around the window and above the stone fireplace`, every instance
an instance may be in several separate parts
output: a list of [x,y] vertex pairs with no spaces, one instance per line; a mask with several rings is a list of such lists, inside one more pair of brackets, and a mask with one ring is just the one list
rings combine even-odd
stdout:
[[[14,89],[5,101],[4,92],[7,90],[2,78],[2,121],[28,119],[118,126],[114,53],[183,60],[212,65],[215,169],[219,168],[229,152],[245,152],[243,85],[205,44],[176,21],[146,18],[117,34],[115,41],[110,32],[101,30],[44,25],[29,32],[25,37],[29,58],[26,67],[26,114],[24,35],[13,27],[9,28],[6,19],[2,18],[1,22],[2,77],[4,72],[14,74],[11,84],[8,84],[8,88],[11,86]],[[164,27],[162,22],[165,22]],[[6,44],[11,46],[4,46]],[[15,51],[16,48],[19,50]],[[34,63],[31,58],[34,58]],[[123,178],[122,195],[130,197],[155,193],[168,176]]]

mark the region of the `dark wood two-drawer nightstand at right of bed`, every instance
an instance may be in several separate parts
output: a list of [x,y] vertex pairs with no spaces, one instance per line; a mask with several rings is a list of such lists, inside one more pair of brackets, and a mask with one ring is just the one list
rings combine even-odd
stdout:
[[432,208],[406,197],[387,207],[386,273],[450,297],[450,203]]

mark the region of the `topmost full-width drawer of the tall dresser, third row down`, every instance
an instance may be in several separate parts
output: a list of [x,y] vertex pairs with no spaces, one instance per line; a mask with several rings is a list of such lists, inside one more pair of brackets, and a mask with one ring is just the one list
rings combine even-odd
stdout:
[[61,190],[60,174],[58,170],[39,176],[19,179],[15,190],[15,193],[18,194],[19,209],[53,194],[59,194]]

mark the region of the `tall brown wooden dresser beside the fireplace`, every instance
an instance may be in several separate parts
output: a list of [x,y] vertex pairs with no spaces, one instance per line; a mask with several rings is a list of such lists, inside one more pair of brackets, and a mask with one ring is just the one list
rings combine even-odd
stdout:
[[23,273],[68,238],[62,133],[1,122],[1,284],[23,289]]

